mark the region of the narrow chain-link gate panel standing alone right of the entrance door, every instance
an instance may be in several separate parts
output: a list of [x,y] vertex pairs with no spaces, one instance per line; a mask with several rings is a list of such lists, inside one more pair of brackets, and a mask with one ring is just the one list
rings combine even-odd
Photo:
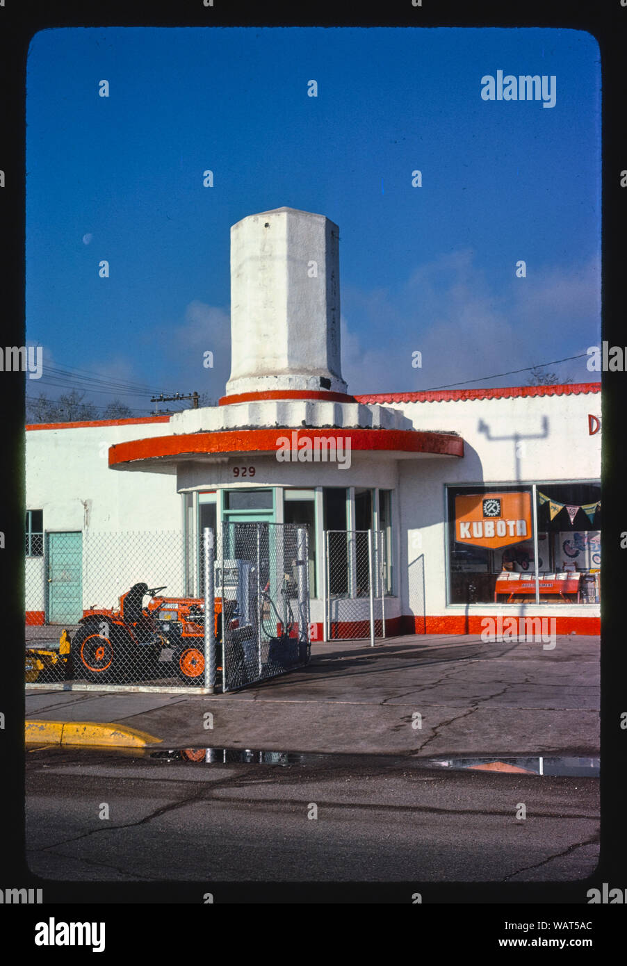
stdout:
[[385,533],[325,530],[326,639],[385,638]]

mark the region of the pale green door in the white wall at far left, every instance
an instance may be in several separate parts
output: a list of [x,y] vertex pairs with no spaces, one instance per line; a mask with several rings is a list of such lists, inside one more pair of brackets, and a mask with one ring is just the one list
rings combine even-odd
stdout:
[[76,624],[83,615],[83,535],[47,533],[48,624]]

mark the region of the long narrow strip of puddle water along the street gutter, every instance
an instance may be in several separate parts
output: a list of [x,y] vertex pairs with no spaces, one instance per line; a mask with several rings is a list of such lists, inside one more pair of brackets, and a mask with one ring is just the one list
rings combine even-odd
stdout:
[[406,755],[355,755],[346,753],[268,752],[250,748],[182,748],[151,752],[160,761],[181,761],[207,765],[324,765],[359,758],[393,758],[413,768],[442,771],[482,771],[510,775],[542,775],[551,778],[598,778],[600,758],[527,755],[519,757],[409,758]]

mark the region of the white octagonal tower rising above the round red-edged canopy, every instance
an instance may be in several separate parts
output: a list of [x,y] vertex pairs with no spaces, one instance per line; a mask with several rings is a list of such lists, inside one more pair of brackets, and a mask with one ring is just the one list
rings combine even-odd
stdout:
[[346,393],[340,360],[339,229],[277,208],[231,228],[229,397]]

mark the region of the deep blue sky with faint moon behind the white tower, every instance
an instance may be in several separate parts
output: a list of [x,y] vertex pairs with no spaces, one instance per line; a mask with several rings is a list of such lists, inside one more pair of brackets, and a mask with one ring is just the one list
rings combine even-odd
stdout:
[[[555,75],[556,106],[481,99],[499,70]],[[230,227],[284,205],[340,227],[349,391],[456,384],[600,342],[600,63],[583,31],[46,30],[26,134],[26,332],[43,345],[28,396],[82,385],[138,414],[156,390],[217,399]],[[585,359],[550,368],[598,379]]]

